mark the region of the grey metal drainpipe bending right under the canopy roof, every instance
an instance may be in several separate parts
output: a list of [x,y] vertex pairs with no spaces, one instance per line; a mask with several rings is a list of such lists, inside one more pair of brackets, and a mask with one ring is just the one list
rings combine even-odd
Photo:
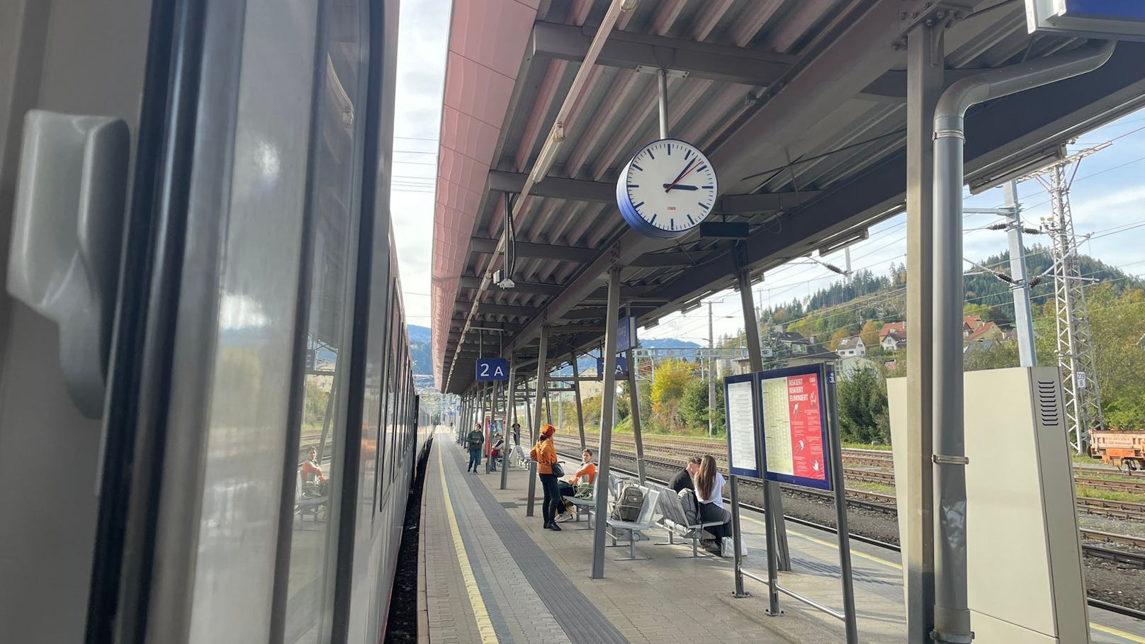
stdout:
[[1114,44],[990,70],[948,87],[934,109],[934,630],[935,642],[968,644],[966,457],[962,380],[963,117],[977,103],[1092,71]]

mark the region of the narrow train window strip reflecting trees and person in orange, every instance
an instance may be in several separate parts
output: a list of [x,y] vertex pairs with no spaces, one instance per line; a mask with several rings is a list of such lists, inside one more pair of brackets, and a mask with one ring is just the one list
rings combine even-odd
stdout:
[[306,644],[329,642],[332,628],[368,47],[364,2],[323,5],[303,251],[309,274],[302,276],[307,369],[284,629],[285,642]]

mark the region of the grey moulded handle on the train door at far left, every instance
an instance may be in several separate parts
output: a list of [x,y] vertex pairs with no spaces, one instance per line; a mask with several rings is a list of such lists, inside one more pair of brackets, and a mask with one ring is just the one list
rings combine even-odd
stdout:
[[119,118],[24,117],[8,293],[56,323],[68,393],[88,418],[103,415],[129,144]]

